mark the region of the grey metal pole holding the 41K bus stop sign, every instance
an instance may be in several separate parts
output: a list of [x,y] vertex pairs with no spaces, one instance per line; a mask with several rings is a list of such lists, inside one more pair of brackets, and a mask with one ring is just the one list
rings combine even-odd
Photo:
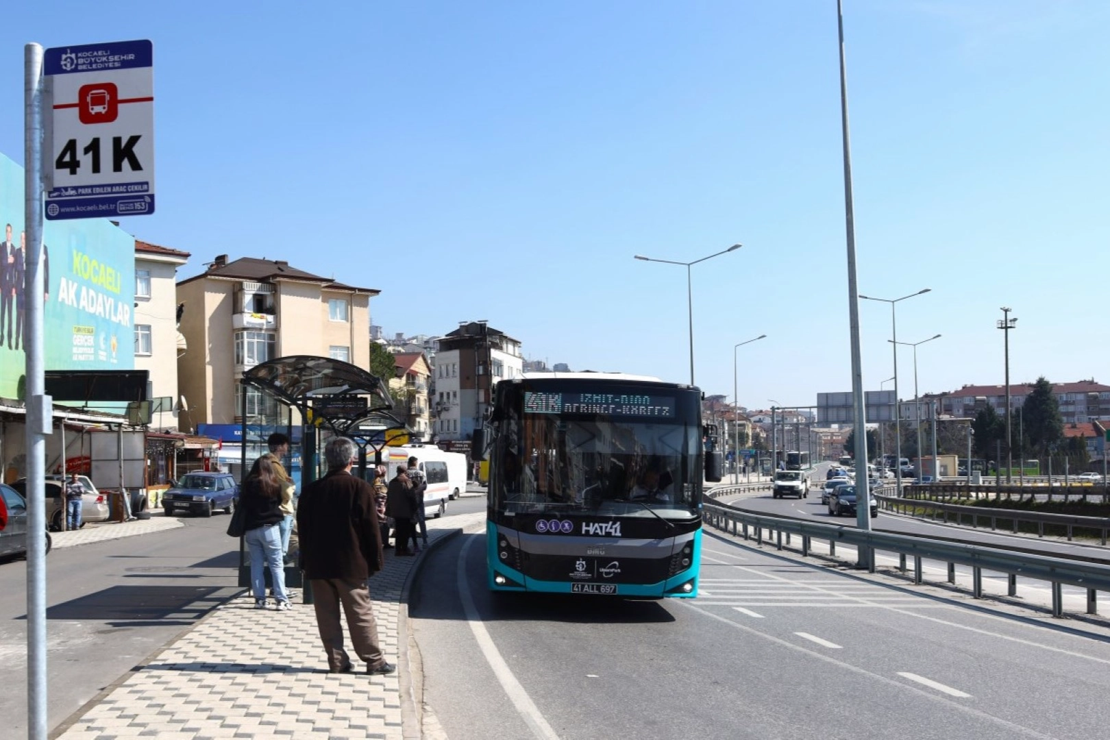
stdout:
[[[23,47],[23,223],[27,231],[27,737],[47,738],[47,440],[42,357],[42,47]],[[64,498],[64,497],[63,497]]]

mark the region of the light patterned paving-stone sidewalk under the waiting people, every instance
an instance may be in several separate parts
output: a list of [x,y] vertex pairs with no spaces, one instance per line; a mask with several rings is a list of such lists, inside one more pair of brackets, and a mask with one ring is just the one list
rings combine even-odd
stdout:
[[[431,546],[484,517],[483,511],[430,520]],[[312,605],[263,611],[244,591],[105,690],[51,737],[418,738],[403,596],[410,572],[425,553],[386,555],[385,568],[370,581],[382,649],[390,662],[397,662],[392,676],[329,673]],[[350,636],[346,645],[356,658]],[[356,668],[360,665],[356,660]]]

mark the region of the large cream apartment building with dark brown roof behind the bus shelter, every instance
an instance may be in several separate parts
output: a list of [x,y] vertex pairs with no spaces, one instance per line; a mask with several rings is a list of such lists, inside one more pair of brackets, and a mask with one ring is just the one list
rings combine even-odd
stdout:
[[[282,260],[219,255],[178,283],[181,333],[189,349],[178,363],[188,412],[182,428],[242,420],[243,373],[275,357],[315,355],[370,371],[370,298],[380,291],[313,275]],[[248,387],[248,417],[266,414]]]

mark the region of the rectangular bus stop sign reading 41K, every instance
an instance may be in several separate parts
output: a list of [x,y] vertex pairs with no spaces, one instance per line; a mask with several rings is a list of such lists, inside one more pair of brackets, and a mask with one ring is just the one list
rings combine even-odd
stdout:
[[47,219],[154,212],[153,60],[150,41],[46,50]]

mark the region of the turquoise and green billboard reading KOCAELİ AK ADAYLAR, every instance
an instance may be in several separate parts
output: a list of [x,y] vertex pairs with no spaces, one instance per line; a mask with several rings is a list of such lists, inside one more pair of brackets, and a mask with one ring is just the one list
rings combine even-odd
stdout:
[[[107,219],[43,225],[46,369],[134,368],[135,241]],[[23,168],[0,154],[0,398],[23,398]]]

